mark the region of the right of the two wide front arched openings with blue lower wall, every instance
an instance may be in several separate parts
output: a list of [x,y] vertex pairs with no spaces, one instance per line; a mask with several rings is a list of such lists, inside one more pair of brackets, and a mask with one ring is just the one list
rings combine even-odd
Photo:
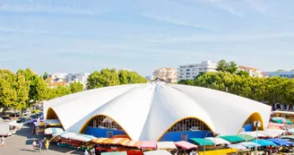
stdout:
[[196,117],[186,117],[171,125],[168,130],[161,134],[157,141],[187,141],[189,138],[204,138],[212,136],[212,128]]

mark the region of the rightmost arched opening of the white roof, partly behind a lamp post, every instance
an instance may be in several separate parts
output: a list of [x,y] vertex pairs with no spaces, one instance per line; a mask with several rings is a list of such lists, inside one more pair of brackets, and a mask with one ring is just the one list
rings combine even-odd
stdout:
[[255,121],[259,121],[261,123],[261,126],[258,127],[258,130],[264,130],[264,120],[258,112],[255,112],[246,119],[246,121],[244,122],[244,124],[242,125],[238,133],[255,131],[256,130],[254,126]]

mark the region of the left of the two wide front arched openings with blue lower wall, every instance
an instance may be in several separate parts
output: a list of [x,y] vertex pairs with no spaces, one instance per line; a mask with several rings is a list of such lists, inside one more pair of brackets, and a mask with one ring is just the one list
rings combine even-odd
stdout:
[[112,138],[114,136],[125,135],[130,136],[125,132],[121,125],[109,116],[92,116],[83,126],[80,133],[94,135],[96,137]]

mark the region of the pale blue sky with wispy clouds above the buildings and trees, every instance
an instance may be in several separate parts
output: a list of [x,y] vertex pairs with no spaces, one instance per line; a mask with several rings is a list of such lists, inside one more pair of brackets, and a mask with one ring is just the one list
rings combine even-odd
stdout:
[[294,69],[292,0],[0,0],[0,68],[37,73],[203,60]]

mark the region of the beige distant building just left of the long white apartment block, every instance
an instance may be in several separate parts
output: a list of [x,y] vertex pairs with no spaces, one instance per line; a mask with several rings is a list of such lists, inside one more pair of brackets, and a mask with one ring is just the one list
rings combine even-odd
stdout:
[[168,83],[177,82],[177,70],[174,68],[164,67],[153,72],[154,80],[160,79]]

